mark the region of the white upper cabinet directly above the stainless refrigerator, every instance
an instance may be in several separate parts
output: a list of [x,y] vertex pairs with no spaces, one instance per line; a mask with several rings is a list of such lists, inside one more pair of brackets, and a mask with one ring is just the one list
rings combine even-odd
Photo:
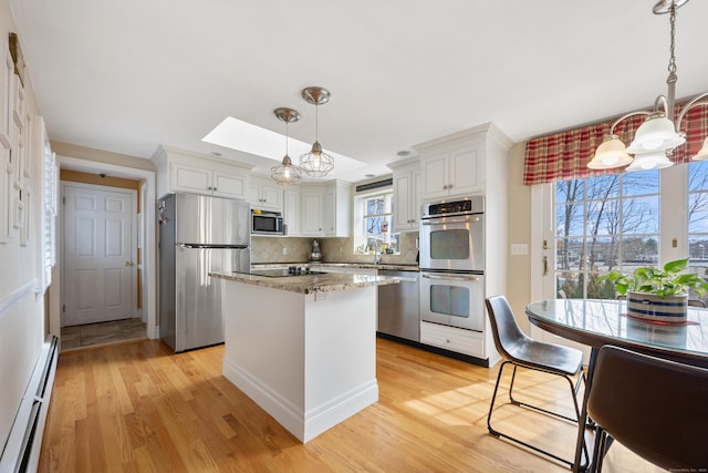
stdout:
[[174,192],[246,198],[250,167],[207,155],[162,146],[153,157],[157,195]]

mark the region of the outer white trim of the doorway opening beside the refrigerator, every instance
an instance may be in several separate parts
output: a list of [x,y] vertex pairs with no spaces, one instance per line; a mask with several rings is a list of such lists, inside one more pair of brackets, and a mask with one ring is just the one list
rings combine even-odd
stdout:
[[[136,167],[126,167],[115,164],[102,163],[79,157],[63,156],[56,154],[60,168],[82,171],[86,173],[107,173],[115,177],[126,177],[132,179],[144,179],[140,187],[140,235],[143,239],[142,253],[142,289],[143,289],[143,310],[147,312],[147,337],[150,339],[159,338],[159,327],[157,326],[157,240],[155,224],[155,172],[139,169]],[[63,213],[62,206],[59,212]],[[58,216],[63,220],[63,215]],[[63,248],[63,230],[58,232],[58,248]],[[49,298],[49,322],[50,332],[61,340],[61,275],[63,273],[63,261],[61,251],[58,251],[56,265],[52,269],[52,286],[50,287]],[[56,286],[56,287],[55,287]]]

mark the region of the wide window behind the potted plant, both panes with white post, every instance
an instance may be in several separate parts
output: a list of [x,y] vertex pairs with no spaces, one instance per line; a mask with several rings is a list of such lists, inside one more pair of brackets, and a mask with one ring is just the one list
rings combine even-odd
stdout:
[[[708,162],[675,166],[671,175],[660,173],[555,183],[554,276],[559,297],[614,298],[613,286],[598,281],[600,276],[612,269],[631,273],[639,266],[680,258],[679,240],[684,237],[689,270],[708,276]],[[667,209],[668,216],[660,216],[659,208]],[[662,248],[678,255],[662,257]]]

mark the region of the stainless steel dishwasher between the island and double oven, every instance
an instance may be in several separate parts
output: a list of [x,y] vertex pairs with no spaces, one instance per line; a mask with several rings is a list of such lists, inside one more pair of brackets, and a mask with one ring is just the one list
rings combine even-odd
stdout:
[[379,276],[406,278],[378,286],[378,332],[420,342],[418,271],[378,270]]

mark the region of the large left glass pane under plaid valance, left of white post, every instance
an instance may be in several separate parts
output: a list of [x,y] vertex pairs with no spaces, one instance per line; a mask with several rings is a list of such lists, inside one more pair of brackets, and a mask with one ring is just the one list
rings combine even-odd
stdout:
[[556,286],[562,297],[614,298],[598,276],[658,263],[658,171],[555,184]]

